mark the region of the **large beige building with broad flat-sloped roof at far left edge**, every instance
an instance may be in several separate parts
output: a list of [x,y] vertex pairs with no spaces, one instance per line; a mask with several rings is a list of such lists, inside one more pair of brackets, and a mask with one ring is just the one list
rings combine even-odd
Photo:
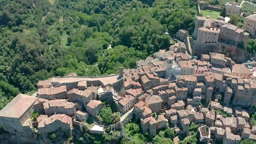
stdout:
[[19,94],[0,111],[0,125],[9,133],[32,133],[32,114],[36,97]]

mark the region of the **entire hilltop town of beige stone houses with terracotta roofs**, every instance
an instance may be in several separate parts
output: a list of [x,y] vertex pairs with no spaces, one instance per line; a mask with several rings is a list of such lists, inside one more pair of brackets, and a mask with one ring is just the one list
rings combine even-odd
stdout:
[[[229,16],[242,13],[235,3],[225,8]],[[39,80],[37,92],[18,94],[0,111],[1,139],[51,143],[57,134],[71,143],[79,134],[118,131],[118,140],[129,141],[124,127],[135,121],[148,137],[173,130],[175,144],[189,136],[198,136],[198,143],[256,140],[250,116],[256,104],[256,62],[242,63],[249,37],[255,35],[256,14],[245,17],[243,28],[223,17],[198,16],[191,37],[180,29],[175,44],[137,61],[136,68],[120,67],[109,76],[70,73]],[[191,125],[197,125],[196,133]]]

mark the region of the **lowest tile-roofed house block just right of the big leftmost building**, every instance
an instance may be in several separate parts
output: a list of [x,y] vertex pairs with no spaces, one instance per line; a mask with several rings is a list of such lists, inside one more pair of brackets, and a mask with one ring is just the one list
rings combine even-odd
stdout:
[[56,114],[48,118],[47,115],[40,115],[37,118],[38,134],[50,133],[56,130],[62,130],[70,133],[73,128],[72,118],[65,114]]

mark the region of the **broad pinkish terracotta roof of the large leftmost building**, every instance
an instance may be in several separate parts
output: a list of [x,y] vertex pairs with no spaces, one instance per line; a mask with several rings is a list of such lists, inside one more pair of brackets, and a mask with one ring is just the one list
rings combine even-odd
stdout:
[[18,94],[1,111],[0,116],[7,118],[20,118],[37,100],[25,94]]

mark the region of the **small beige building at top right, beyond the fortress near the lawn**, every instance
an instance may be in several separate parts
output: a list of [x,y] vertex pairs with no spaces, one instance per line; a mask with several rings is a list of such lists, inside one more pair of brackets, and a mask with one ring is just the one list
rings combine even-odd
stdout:
[[231,16],[232,14],[237,14],[238,16],[242,13],[242,7],[236,2],[228,2],[225,4],[226,16]]

